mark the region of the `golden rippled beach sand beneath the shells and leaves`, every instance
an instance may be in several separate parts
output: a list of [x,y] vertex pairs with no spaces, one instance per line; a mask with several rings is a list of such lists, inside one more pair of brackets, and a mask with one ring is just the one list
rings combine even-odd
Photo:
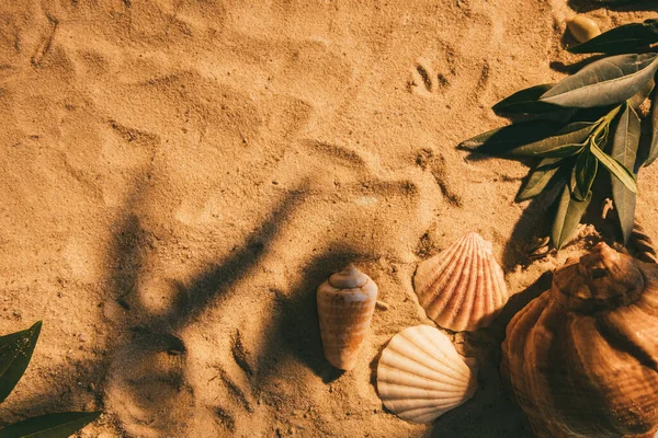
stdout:
[[[0,333],[44,326],[0,423],[102,410],[82,437],[531,436],[498,344],[570,251],[525,263],[546,226],[513,203],[525,165],[455,146],[581,59],[570,7],[2,1]],[[586,10],[603,30],[653,15]],[[657,169],[639,180],[653,235]],[[455,336],[483,361],[474,400],[409,424],[378,400],[376,358],[432,324],[413,272],[468,230],[522,298]],[[340,373],[315,289],[349,262],[389,308]]]

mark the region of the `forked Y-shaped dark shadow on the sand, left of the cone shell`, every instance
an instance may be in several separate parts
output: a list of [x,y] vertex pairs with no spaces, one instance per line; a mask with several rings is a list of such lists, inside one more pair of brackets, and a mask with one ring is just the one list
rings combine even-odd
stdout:
[[[114,230],[107,284],[113,298],[126,310],[124,321],[114,323],[127,324],[129,332],[111,347],[113,360],[110,369],[105,370],[105,380],[106,384],[111,384],[107,379],[112,379],[115,387],[118,384],[128,391],[129,400],[125,403],[156,418],[150,425],[152,429],[171,431],[171,422],[167,416],[157,415],[160,411],[157,406],[175,406],[179,399],[186,400],[186,394],[193,391],[184,379],[188,349],[178,334],[208,304],[226,297],[237,280],[258,266],[270,242],[276,238],[280,224],[303,203],[305,192],[290,192],[242,244],[201,272],[188,286],[179,285],[179,299],[163,314],[152,314],[137,293],[139,275],[151,245],[150,233],[143,227],[139,216],[148,189],[140,183],[128,197]],[[170,356],[172,359],[167,362],[175,366],[144,374],[143,369],[158,362],[162,355]],[[156,404],[149,393],[154,385],[159,389]]]

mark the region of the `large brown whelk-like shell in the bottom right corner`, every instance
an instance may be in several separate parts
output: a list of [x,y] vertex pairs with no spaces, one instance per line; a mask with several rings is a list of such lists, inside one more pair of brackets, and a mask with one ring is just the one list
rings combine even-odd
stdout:
[[[501,374],[540,437],[658,428],[658,265],[599,243],[509,323]],[[651,435],[653,436],[653,435]]]

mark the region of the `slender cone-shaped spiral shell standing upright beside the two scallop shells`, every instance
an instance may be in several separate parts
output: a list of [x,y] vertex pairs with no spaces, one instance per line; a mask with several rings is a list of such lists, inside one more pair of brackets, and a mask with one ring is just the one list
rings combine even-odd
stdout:
[[336,368],[354,368],[377,301],[377,285],[350,264],[318,287],[325,357]]

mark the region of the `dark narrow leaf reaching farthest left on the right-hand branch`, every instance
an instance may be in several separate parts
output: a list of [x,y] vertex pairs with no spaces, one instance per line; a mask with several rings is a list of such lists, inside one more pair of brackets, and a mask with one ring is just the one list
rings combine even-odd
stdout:
[[490,155],[506,155],[507,151],[554,135],[561,125],[554,122],[523,122],[477,135],[460,143],[460,148]]

